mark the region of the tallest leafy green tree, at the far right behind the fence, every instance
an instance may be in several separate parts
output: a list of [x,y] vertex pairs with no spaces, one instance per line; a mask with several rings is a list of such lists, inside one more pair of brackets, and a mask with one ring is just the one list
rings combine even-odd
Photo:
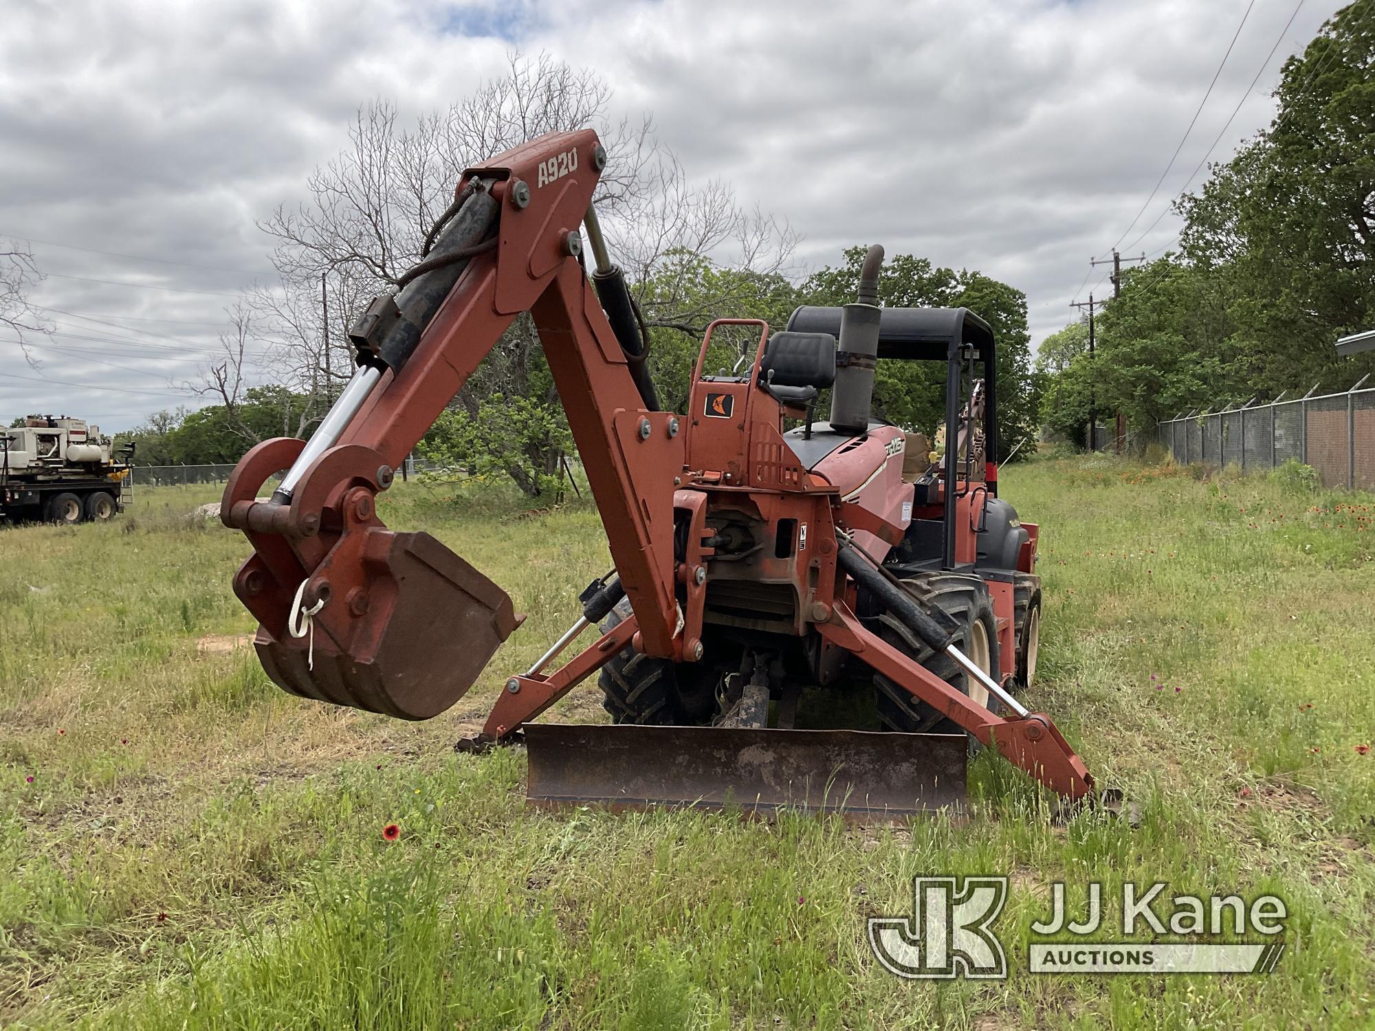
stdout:
[[1180,206],[1184,258],[1216,291],[1250,393],[1375,371],[1332,348],[1375,324],[1372,69],[1375,4],[1356,3],[1286,63],[1270,126]]

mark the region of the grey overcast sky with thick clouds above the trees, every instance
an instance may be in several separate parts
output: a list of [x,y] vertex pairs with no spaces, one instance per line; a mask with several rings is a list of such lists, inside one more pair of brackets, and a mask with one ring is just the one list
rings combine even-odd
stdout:
[[444,107],[512,47],[652,113],[689,176],[803,235],[799,272],[870,242],[978,268],[1026,291],[1040,341],[1110,289],[1090,256],[1169,246],[1170,213],[1141,234],[1214,139],[1225,159],[1269,121],[1284,58],[1342,5],[1288,23],[1295,3],[0,0],[0,241],[32,241],[56,330],[38,368],[0,330],[0,418],[117,430],[202,403],[179,384],[236,293],[272,283],[256,220],[359,104]]

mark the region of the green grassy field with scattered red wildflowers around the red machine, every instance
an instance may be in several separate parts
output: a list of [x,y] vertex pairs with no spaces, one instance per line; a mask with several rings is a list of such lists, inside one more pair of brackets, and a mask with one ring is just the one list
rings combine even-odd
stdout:
[[[1004,496],[1042,525],[1034,708],[1143,804],[1137,828],[1055,826],[989,756],[962,821],[527,812],[520,751],[450,746],[608,566],[590,509],[422,484],[384,499],[529,613],[425,724],[267,683],[236,646],[245,542],[184,517],[209,489],[0,531],[0,1020],[1370,1027],[1375,498],[1106,458],[1016,467]],[[601,719],[595,687],[556,713]],[[917,873],[1011,874],[1009,980],[877,965],[865,918],[910,913]],[[1062,878],[1273,892],[1288,950],[1266,977],[1033,976],[1028,925]]]

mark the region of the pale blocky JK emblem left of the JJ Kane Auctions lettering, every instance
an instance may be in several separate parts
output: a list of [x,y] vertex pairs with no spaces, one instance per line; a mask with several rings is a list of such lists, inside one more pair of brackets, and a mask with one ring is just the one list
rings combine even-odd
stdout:
[[1008,900],[1006,877],[914,877],[913,917],[870,917],[869,944],[899,977],[1006,977],[991,924]]

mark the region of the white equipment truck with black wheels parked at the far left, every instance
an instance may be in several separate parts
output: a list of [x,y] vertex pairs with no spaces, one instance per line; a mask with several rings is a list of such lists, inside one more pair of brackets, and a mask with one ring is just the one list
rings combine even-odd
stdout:
[[0,429],[0,517],[11,522],[104,522],[124,509],[129,466],[99,426],[29,415]]

